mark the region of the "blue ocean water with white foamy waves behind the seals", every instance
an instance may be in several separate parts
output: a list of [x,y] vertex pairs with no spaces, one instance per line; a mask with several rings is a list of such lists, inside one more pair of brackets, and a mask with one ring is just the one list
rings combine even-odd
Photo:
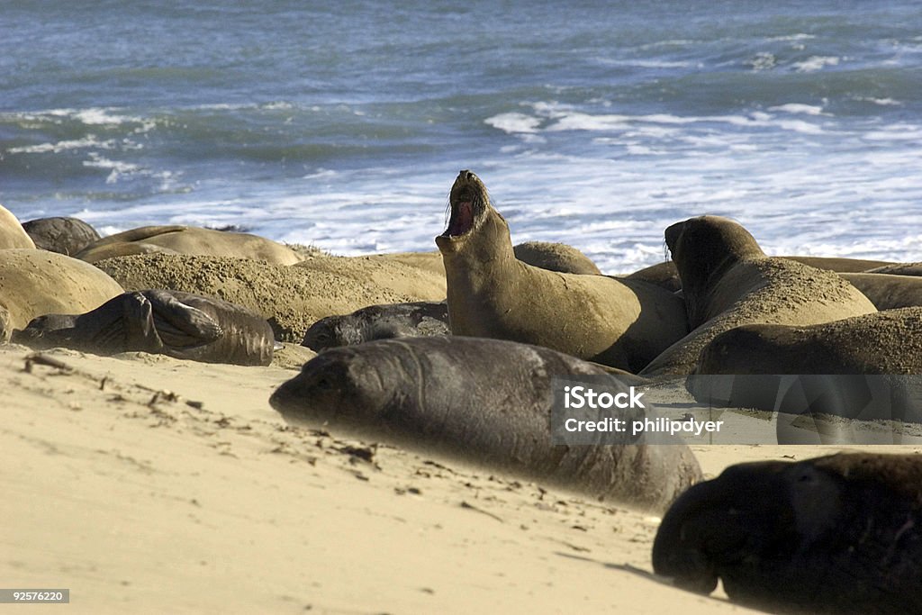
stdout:
[[104,233],[432,250],[460,169],[610,273],[739,219],[922,260],[917,2],[29,0],[0,14],[0,202]]

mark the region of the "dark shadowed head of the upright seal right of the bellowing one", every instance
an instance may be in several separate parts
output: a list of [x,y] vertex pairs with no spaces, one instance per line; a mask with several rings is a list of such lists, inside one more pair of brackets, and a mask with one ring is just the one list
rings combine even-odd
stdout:
[[765,255],[742,225],[719,216],[673,224],[666,230],[666,245],[686,298],[700,296],[696,293],[703,292],[739,261]]

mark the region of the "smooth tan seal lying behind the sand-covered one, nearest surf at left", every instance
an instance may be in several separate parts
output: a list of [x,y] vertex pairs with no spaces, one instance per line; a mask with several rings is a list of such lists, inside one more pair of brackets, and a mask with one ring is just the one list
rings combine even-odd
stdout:
[[[139,243],[135,248],[124,244]],[[77,258],[89,263],[112,256],[127,256],[163,251],[199,256],[233,256],[265,261],[273,265],[294,265],[303,260],[301,254],[278,242],[246,232],[214,231],[180,225],[148,226],[103,237],[77,253]]]

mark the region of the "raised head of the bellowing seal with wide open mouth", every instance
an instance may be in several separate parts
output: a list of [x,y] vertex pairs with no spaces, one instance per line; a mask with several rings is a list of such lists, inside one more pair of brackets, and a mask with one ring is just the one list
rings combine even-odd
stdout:
[[475,236],[491,242],[494,236],[502,239],[504,235],[512,249],[505,219],[491,207],[487,186],[473,172],[465,170],[458,173],[448,195],[448,205],[451,207],[448,228],[435,238],[442,254],[462,251]]

